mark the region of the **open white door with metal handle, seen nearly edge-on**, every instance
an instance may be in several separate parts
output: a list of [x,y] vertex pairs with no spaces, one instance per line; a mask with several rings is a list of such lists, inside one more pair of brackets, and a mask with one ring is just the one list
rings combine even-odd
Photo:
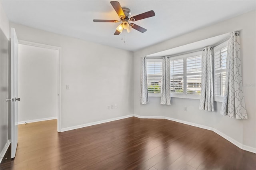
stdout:
[[11,29],[11,158],[15,157],[18,145],[18,38]]

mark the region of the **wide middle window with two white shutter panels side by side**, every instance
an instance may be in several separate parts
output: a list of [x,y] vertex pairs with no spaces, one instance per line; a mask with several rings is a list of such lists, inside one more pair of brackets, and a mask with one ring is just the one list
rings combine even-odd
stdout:
[[202,51],[170,58],[171,96],[199,99],[201,93]]

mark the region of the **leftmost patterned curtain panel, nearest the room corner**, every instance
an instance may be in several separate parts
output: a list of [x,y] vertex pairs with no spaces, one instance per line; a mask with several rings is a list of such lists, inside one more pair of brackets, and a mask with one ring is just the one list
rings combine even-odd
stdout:
[[140,78],[140,104],[149,103],[148,99],[148,79],[147,79],[147,58],[142,58],[141,78]]

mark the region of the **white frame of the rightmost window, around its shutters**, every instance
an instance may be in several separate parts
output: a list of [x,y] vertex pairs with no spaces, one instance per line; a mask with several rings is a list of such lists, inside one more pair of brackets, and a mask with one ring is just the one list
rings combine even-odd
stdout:
[[222,72],[222,71],[216,71],[216,69],[215,69],[215,53],[216,53],[215,50],[221,50],[225,47],[228,47],[228,40],[226,40],[225,42],[222,42],[220,45],[217,45],[216,47],[213,48],[213,55],[214,55],[213,56],[213,91],[214,91],[214,101],[217,101],[217,102],[223,102],[224,97],[215,95],[215,87],[216,87],[216,85],[215,85],[216,75],[215,74],[218,72]]

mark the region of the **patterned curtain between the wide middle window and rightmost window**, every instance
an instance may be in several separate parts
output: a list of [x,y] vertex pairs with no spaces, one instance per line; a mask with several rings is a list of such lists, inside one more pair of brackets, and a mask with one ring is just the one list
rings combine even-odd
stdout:
[[213,112],[213,100],[213,50],[208,46],[202,52],[202,85],[199,109]]

